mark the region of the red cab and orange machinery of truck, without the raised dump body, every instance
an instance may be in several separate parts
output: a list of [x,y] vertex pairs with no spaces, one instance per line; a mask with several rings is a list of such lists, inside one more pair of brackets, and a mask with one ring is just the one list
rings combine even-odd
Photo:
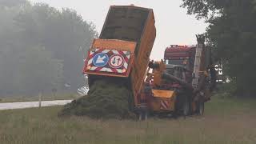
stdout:
[[148,112],[154,114],[202,115],[204,103],[210,100],[210,94],[216,85],[216,72],[210,49],[200,44],[178,46],[171,45],[165,50],[161,62],[151,61],[140,94],[146,109],[140,118],[146,118]]

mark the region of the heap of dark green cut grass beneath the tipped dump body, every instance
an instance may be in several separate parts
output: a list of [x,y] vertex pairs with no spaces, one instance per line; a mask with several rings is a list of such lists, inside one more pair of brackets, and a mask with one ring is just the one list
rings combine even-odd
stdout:
[[88,116],[90,118],[134,118],[130,103],[132,92],[124,82],[97,80],[88,95],[64,106],[59,115]]

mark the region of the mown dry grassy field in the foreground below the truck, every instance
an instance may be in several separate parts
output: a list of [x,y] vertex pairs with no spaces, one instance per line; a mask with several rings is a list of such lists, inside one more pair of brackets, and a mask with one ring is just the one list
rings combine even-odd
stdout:
[[0,111],[0,143],[254,144],[256,100],[214,98],[203,117],[92,120],[58,118],[61,107]]

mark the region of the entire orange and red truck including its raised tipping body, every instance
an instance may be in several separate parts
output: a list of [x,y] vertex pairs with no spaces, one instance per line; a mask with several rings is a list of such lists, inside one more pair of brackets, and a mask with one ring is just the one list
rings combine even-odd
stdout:
[[170,46],[164,60],[150,61],[154,23],[152,9],[110,6],[101,34],[87,53],[83,73],[89,87],[104,78],[126,83],[139,119],[150,113],[202,114],[204,102],[210,99],[205,84],[212,82],[204,37],[198,35],[197,46]]

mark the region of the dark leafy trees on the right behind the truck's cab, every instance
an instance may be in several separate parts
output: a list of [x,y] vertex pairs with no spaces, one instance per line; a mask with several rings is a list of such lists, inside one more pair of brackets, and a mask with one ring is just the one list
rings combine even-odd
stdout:
[[230,78],[228,91],[254,97],[256,89],[256,0],[182,0],[188,14],[204,19],[207,44]]

